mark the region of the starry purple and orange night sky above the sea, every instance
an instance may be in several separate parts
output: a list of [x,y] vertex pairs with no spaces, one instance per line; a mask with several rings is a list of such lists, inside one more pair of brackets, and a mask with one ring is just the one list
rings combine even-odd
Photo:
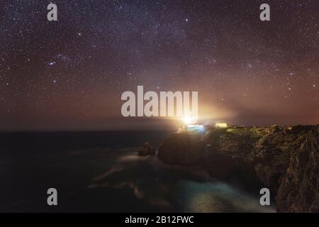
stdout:
[[121,116],[138,85],[198,91],[201,121],[319,123],[318,0],[50,2],[0,2],[1,131],[171,126]]

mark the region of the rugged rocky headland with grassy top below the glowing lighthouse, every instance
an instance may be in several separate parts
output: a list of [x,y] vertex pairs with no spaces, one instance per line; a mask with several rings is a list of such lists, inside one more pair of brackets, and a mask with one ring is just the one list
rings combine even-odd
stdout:
[[267,187],[279,212],[319,212],[319,125],[182,131],[159,147],[170,165],[201,165],[217,179]]

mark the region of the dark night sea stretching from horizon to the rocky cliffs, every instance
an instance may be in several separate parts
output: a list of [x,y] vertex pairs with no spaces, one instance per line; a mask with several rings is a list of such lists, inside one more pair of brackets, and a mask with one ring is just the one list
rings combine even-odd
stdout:
[[[274,212],[199,167],[137,155],[170,133],[0,133],[0,211]],[[47,206],[51,187],[58,206]]]

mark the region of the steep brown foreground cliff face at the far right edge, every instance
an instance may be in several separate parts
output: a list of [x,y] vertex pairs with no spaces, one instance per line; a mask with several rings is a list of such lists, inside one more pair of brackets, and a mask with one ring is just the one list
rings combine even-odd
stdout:
[[276,197],[279,211],[319,212],[319,127],[291,153]]

